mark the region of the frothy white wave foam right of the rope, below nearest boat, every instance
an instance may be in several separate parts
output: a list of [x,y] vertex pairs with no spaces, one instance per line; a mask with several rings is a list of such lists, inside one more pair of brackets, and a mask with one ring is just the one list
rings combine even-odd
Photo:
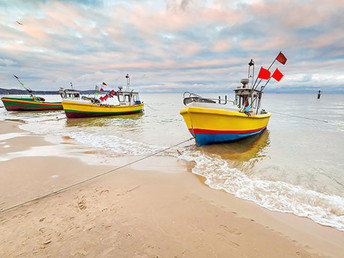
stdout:
[[200,151],[184,151],[180,159],[196,163],[192,172],[206,178],[206,184],[238,198],[251,200],[274,211],[308,217],[344,231],[344,198],[330,196],[281,181],[252,179],[219,157]]

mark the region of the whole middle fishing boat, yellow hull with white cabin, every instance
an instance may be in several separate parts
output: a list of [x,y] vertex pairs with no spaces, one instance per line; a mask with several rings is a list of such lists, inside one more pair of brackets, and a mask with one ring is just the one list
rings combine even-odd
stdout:
[[[128,81],[125,90],[120,86],[117,91],[112,90],[100,98],[83,96],[78,100],[62,100],[66,116],[68,118],[102,117],[142,112],[143,103],[140,101],[139,93],[129,89],[129,75],[126,78]],[[117,103],[110,104],[108,98],[116,99]]]

